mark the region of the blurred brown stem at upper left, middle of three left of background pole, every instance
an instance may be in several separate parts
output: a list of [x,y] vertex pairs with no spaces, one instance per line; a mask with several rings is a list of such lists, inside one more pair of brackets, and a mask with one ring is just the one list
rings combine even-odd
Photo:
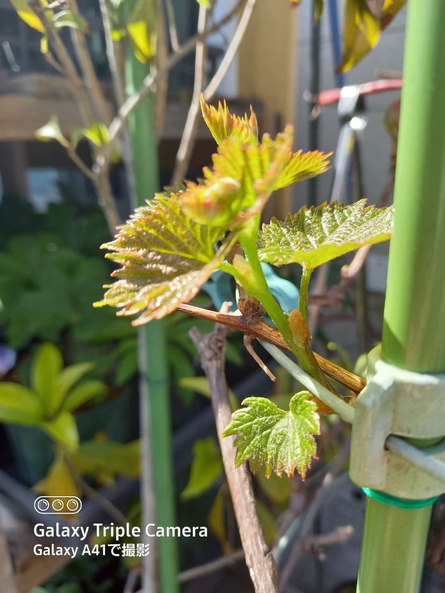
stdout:
[[[80,14],[77,0],[68,0],[68,6],[74,14]],[[90,103],[94,107],[95,119],[97,122],[104,122],[106,126],[109,126],[112,121],[112,113],[94,70],[85,35],[78,28],[71,28],[71,39],[83,72],[83,81],[90,97]]]

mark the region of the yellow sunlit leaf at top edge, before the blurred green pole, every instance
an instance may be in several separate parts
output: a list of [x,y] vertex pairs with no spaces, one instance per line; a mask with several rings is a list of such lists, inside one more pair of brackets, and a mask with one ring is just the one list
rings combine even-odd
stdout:
[[127,21],[127,31],[139,62],[147,64],[156,55],[157,25],[154,0],[137,0]]

